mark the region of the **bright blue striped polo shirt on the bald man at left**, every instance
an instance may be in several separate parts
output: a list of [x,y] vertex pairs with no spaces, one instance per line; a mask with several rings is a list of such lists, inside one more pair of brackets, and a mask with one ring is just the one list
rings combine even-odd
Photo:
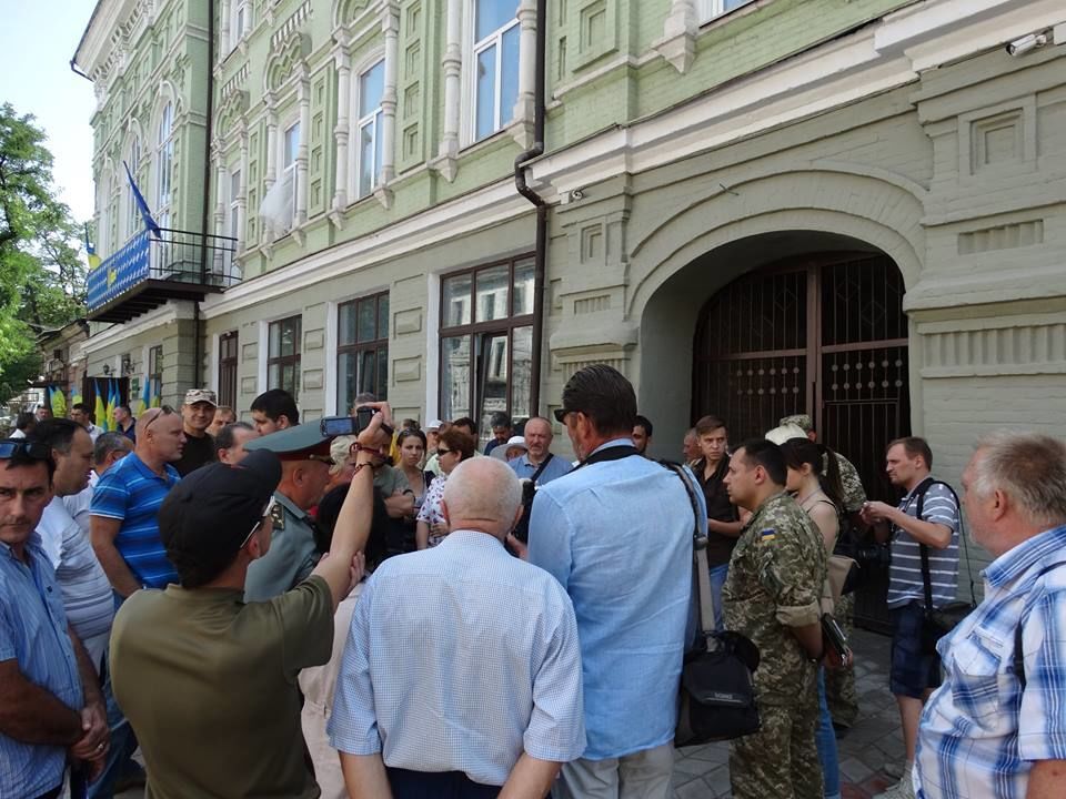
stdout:
[[157,514],[167,494],[181,481],[170,464],[167,477],[160,477],[132,453],[109,468],[97,483],[89,513],[120,519],[114,546],[134,579],[149,588],[165,588],[178,581],[178,573],[167,558],[159,537]]

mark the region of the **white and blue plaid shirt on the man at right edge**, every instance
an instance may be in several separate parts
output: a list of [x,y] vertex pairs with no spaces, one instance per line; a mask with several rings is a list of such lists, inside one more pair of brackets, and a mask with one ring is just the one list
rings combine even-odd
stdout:
[[984,601],[937,645],[944,682],[922,711],[919,799],[1023,799],[1035,761],[1066,759],[1066,566],[1038,576],[1059,562],[1066,526],[1000,555]]

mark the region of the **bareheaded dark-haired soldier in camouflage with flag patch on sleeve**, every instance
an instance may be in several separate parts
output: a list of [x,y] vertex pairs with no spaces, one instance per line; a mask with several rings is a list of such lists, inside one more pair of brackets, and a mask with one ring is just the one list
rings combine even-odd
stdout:
[[730,459],[730,499],[752,512],[723,589],[726,629],[760,650],[755,698],[762,729],[731,742],[734,799],[821,799],[815,747],[821,606],[826,577],[822,535],[785,493],[776,444],[753,439]]

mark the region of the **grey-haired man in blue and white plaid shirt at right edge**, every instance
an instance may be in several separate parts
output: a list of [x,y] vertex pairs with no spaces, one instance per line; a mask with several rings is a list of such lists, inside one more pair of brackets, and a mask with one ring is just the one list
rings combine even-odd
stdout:
[[963,473],[971,535],[995,558],[985,598],[939,650],[916,796],[1047,799],[1066,779],[1066,444],[999,432]]

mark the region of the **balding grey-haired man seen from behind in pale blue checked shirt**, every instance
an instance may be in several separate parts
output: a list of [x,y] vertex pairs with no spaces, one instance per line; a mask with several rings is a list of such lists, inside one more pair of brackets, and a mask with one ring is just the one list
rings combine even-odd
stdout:
[[463,462],[452,533],[363,588],[329,726],[352,796],[540,799],[584,750],[573,606],[503,544],[521,496],[501,461]]

